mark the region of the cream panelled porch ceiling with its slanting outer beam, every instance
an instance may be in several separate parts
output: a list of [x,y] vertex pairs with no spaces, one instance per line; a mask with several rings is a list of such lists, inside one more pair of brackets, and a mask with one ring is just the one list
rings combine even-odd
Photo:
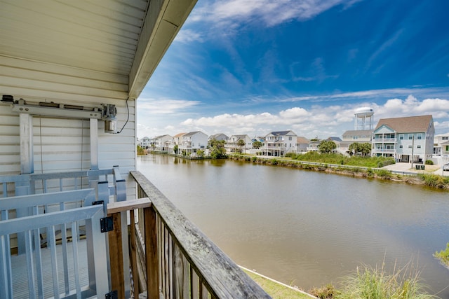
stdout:
[[14,84],[8,82],[23,79],[18,69],[32,64],[47,65],[48,74],[66,75],[48,75],[52,84],[67,85],[67,74],[71,78],[95,76],[95,80],[113,82],[112,89],[123,99],[135,99],[195,3],[0,0],[0,76],[5,78],[0,91],[10,91],[8,86]]

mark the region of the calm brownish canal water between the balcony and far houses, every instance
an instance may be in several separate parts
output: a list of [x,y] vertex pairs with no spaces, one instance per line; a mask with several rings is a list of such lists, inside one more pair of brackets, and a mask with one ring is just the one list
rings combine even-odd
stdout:
[[432,256],[449,242],[448,192],[166,155],[139,157],[138,170],[239,265],[308,290],[362,263],[411,260],[449,298],[449,270]]

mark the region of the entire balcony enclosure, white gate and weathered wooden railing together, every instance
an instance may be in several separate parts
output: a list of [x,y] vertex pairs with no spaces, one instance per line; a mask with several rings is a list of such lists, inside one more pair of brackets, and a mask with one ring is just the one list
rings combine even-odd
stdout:
[[0,298],[270,298],[145,176],[129,177],[135,195],[117,167],[0,176]]

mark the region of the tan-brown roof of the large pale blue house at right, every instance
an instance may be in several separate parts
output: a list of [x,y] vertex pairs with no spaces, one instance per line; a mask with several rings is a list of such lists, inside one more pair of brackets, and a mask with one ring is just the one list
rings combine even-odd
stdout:
[[434,120],[429,116],[408,116],[404,118],[382,118],[377,123],[375,130],[387,125],[398,133],[404,132],[427,132],[429,124]]

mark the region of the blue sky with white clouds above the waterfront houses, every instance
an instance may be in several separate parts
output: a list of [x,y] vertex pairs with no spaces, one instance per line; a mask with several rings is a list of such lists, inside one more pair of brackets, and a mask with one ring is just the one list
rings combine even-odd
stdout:
[[199,0],[137,101],[138,137],[308,138],[434,116],[449,132],[447,0]]

